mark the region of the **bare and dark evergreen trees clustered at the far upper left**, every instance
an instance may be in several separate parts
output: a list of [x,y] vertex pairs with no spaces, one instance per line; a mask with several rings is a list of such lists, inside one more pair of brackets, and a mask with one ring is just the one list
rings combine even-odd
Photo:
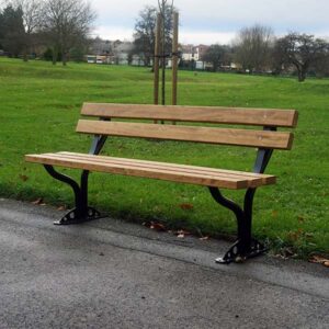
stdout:
[[53,64],[61,59],[66,65],[70,53],[88,44],[94,19],[84,0],[5,1],[0,10],[0,49],[27,60],[33,49],[44,48]]

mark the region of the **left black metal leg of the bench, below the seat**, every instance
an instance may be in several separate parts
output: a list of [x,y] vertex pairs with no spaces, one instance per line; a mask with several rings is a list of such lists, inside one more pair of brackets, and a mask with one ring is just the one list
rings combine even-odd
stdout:
[[98,219],[101,214],[88,206],[88,177],[89,171],[84,170],[81,174],[81,188],[70,177],[57,172],[53,166],[44,164],[47,172],[55,179],[70,185],[75,193],[76,207],[68,212],[61,219],[54,222],[55,225],[79,224]]

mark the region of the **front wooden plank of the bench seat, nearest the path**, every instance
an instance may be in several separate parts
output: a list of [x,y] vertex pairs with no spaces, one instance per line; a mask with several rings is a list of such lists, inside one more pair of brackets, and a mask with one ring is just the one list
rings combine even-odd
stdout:
[[151,178],[167,181],[174,181],[181,183],[190,183],[205,186],[218,186],[223,189],[247,189],[248,181],[241,178],[222,178],[208,177],[204,174],[181,173],[178,171],[160,170],[155,168],[139,168],[129,164],[120,163],[102,163],[94,159],[70,159],[60,157],[57,154],[53,155],[26,155],[25,160],[29,162],[36,162],[43,164],[59,166],[65,168],[83,169],[90,171],[109,172],[124,175],[134,175],[143,178]]

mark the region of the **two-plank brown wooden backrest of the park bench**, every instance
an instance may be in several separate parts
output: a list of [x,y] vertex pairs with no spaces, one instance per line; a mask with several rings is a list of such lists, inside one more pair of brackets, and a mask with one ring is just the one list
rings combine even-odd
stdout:
[[[84,103],[81,114],[105,120],[151,120],[151,122],[80,120],[77,126],[79,133],[239,145],[265,149],[291,149],[293,134],[276,132],[276,128],[295,127],[297,124],[295,110]],[[155,124],[154,121],[174,121],[184,122],[184,124],[160,125]],[[188,122],[245,127],[186,125]],[[246,126],[253,126],[253,129],[246,128]]]

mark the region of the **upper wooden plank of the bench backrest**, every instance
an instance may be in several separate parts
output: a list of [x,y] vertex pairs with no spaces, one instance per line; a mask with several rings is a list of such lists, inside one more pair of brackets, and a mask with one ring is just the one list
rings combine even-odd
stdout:
[[298,118],[295,110],[111,103],[84,103],[81,114],[113,118],[149,118],[275,127],[295,127]]

